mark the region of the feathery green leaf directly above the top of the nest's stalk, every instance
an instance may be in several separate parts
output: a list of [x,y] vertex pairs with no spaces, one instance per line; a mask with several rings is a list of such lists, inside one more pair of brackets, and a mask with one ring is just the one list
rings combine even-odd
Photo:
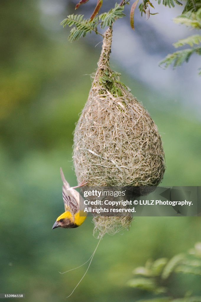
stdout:
[[115,7],[107,13],[100,14],[99,20],[101,20],[101,28],[112,26],[112,23],[114,23],[117,19],[125,17],[123,10],[123,6],[116,4]]

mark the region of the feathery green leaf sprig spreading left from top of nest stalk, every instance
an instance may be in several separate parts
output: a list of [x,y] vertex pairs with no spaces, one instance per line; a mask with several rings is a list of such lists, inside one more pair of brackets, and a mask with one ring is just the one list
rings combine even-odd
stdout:
[[70,42],[74,40],[79,40],[81,37],[85,37],[87,33],[95,31],[96,34],[100,34],[97,31],[97,27],[105,28],[107,26],[112,26],[112,24],[119,18],[123,18],[125,14],[123,13],[124,7],[115,5],[110,11],[100,14],[93,20],[84,19],[84,15],[69,15],[66,19],[61,22],[61,25],[69,27],[75,25],[70,31],[68,40]]

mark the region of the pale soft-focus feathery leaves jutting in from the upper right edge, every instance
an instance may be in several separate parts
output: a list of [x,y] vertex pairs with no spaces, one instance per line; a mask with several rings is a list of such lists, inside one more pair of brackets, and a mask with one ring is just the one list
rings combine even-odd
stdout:
[[[174,18],[175,23],[185,24],[195,29],[201,29],[201,8],[196,13],[189,13],[186,15],[181,15],[177,18]],[[194,45],[199,45],[201,43],[201,35],[192,35],[185,39],[180,39],[179,41],[173,43],[174,47],[182,47],[186,44],[190,45],[191,48],[184,50],[176,51],[172,54],[168,54],[164,60],[162,60],[159,65],[163,65],[167,68],[170,64],[173,64],[173,68],[182,65],[184,62],[188,62],[190,57],[196,53],[199,56],[201,55],[201,45],[195,47]],[[199,71],[201,74],[201,71]]]

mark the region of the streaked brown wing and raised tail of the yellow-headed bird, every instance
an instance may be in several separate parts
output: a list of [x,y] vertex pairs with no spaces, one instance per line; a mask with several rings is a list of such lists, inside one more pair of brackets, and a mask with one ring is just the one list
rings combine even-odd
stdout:
[[61,168],[60,172],[63,181],[62,196],[65,211],[70,211],[72,214],[76,214],[79,211],[79,193],[70,187],[69,183],[66,181],[63,175]]

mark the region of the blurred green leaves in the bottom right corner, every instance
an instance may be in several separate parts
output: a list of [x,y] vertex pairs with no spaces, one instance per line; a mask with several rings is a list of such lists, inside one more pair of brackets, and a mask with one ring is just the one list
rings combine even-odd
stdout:
[[[200,243],[197,243],[194,249],[185,254],[173,256],[169,261],[166,258],[160,258],[152,262],[149,260],[144,267],[136,268],[134,278],[128,281],[128,286],[141,291],[148,292],[148,300],[140,300],[143,302],[198,302],[201,301],[200,296],[194,295],[193,287],[183,287],[183,297],[178,298],[174,290],[173,280],[178,282],[178,274],[185,275],[189,280],[189,275],[201,276],[201,253]],[[200,278],[201,279],[201,278]],[[184,279],[183,279],[184,280]],[[197,294],[197,293],[196,293]]]

